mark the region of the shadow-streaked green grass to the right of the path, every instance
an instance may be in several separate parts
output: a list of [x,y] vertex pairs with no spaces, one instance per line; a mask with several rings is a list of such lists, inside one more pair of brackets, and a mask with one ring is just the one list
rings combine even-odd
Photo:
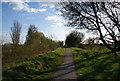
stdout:
[[120,76],[120,57],[71,48],[74,54],[79,79],[110,79],[118,81]]

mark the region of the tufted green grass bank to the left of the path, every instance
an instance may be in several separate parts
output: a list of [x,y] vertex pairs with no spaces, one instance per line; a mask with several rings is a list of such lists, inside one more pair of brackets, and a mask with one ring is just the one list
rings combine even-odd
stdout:
[[48,79],[57,66],[62,62],[65,49],[58,48],[55,51],[40,56],[11,63],[3,67],[3,80],[14,79]]

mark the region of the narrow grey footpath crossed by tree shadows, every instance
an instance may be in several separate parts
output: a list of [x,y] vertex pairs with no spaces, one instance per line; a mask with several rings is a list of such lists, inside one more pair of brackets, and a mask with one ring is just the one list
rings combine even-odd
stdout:
[[66,48],[63,62],[52,79],[77,79],[73,55],[70,49]]

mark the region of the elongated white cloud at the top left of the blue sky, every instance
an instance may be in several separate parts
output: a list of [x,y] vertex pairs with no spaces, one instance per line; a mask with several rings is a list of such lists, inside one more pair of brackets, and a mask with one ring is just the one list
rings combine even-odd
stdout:
[[[13,10],[17,11],[26,11],[26,12],[45,12],[46,9],[36,9],[36,8],[30,8],[27,3],[25,3],[25,0],[14,0],[15,2],[9,2],[9,6]],[[4,2],[7,2],[7,0],[4,0]]]

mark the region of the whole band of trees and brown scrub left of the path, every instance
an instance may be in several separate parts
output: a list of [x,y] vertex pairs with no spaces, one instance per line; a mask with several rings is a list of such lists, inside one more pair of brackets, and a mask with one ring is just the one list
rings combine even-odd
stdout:
[[20,31],[20,24],[15,21],[10,33],[12,43],[2,46],[3,65],[37,56],[63,46],[62,41],[52,40],[51,38],[45,37],[42,32],[38,32],[35,25],[29,26],[25,43],[19,44]]

